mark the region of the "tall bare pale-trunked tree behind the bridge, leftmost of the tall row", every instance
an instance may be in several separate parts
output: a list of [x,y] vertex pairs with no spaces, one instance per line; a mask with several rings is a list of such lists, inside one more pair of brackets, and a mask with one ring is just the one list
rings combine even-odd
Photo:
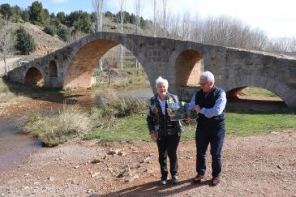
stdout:
[[[95,27],[96,32],[102,32],[103,30],[103,0],[92,0],[94,13],[96,16]],[[103,70],[103,62],[99,60],[99,69]]]

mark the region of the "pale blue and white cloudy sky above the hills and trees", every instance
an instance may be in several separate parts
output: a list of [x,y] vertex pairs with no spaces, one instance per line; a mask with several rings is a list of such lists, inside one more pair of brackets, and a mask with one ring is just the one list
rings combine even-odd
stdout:
[[[144,19],[153,19],[154,0],[140,0],[141,15]],[[18,5],[25,9],[31,6],[32,0],[0,0],[0,4]],[[41,0],[43,8],[49,13],[73,11],[93,12],[92,0]],[[103,0],[103,12],[119,11],[120,0]],[[135,0],[125,0],[125,9],[135,13]],[[163,0],[157,0],[158,9],[162,9]],[[296,1],[295,0],[167,0],[168,13],[198,14],[202,19],[207,17],[228,16],[238,19],[250,26],[263,30],[269,38],[296,37]]]

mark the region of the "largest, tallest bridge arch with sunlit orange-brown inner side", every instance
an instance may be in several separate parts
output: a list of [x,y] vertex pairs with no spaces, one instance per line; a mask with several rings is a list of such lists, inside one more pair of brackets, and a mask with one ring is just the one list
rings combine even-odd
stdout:
[[85,37],[76,43],[78,46],[70,54],[69,64],[66,68],[64,87],[90,87],[90,79],[96,69],[97,62],[102,56],[113,47],[121,44],[137,58],[138,62],[145,67],[141,59],[143,57],[137,53],[133,42],[122,39],[122,35],[100,37],[99,33]]

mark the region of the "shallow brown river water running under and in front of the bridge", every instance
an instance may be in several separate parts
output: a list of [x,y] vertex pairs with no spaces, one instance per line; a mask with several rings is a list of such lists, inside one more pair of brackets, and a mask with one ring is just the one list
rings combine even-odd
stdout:
[[[153,96],[151,88],[117,92],[118,96],[147,99]],[[83,106],[96,106],[100,93],[87,96],[71,97],[73,103]],[[69,99],[68,99],[69,100]],[[53,103],[53,108],[56,107]],[[19,133],[17,124],[22,117],[0,118],[0,173],[12,169],[20,164],[22,159],[41,148],[42,143],[36,139]]]

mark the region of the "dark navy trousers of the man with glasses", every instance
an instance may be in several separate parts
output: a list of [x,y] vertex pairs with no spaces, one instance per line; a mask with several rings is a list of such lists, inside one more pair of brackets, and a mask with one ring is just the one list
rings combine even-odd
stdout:
[[200,175],[206,172],[206,151],[210,143],[212,156],[212,177],[219,177],[222,168],[221,151],[225,136],[225,120],[218,124],[199,122],[196,129],[196,171]]

